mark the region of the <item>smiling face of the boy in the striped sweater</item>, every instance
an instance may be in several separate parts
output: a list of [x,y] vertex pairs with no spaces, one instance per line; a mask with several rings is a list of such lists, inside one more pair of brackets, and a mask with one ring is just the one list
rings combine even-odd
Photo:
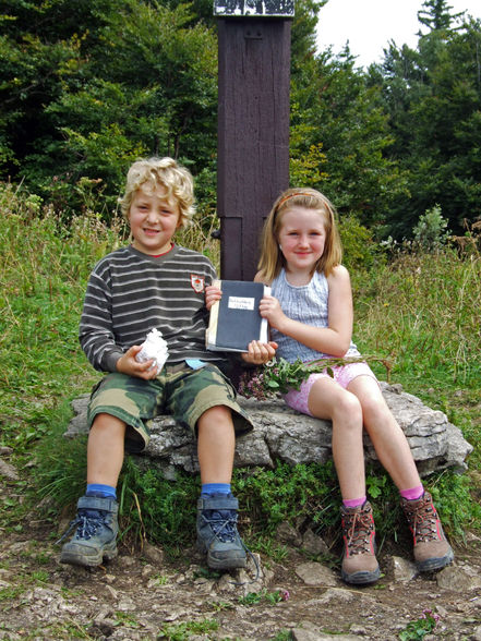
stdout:
[[132,198],[129,222],[132,245],[143,254],[158,256],[170,250],[170,242],[179,227],[180,210],[176,202],[166,199],[163,186],[145,183]]

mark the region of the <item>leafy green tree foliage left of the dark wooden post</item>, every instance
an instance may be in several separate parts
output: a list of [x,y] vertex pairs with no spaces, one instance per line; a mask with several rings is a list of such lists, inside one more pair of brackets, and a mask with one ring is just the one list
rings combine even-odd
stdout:
[[74,186],[85,177],[111,208],[140,155],[175,156],[212,183],[217,45],[187,4],[10,0],[9,10],[3,177],[68,208],[79,206]]

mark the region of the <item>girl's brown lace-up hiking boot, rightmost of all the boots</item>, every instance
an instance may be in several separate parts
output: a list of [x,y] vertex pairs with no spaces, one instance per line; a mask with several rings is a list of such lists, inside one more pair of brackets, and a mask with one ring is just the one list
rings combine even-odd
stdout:
[[421,572],[441,570],[454,559],[443,527],[433,505],[432,496],[424,492],[421,498],[401,498],[401,507],[414,539],[414,560]]

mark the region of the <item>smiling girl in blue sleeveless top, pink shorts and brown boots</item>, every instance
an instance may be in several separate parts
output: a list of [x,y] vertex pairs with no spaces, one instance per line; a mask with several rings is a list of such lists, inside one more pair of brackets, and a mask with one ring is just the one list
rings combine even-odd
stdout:
[[[351,341],[352,295],[340,264],[341,246],[329,201],[312,189],[287,190],[274,204],[263,232],[256,281],[272,287],[260,306],[278,355],[293,362],[359,356]],[[342,579],[378,579],[374,521],[365,498],[363,427],[401,496],[421,571],[449,564],[447,543],[432,498],[424,492],[404,432],[384,401],[366,363],[314,373],[285,400],[291,408],[333,423],[333,457],[342,496]]]

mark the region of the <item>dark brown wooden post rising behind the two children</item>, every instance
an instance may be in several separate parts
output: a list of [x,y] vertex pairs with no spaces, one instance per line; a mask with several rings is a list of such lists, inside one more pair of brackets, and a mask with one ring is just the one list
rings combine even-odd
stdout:
[[289,186],[293,0],[214,0],[219,35],[220,275],[252,280],[263,222]]

